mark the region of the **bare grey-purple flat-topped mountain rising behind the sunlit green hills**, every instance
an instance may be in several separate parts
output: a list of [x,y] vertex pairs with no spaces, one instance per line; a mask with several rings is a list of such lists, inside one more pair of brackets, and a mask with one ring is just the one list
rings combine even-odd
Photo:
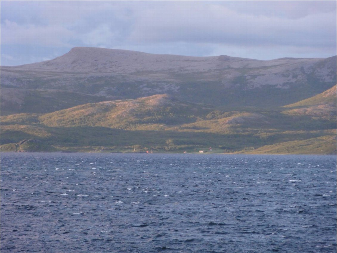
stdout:
[[218,107],[284,106],[331,88],[336,65],[336,56],[262,61],[77,47],[53,60],[1,66],[1,115],[155,94]]

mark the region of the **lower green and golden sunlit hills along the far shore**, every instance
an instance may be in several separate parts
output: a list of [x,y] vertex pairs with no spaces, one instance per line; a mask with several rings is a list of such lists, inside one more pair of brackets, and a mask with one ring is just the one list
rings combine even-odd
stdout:
[[336,116],[224,110],[163,94],[1,116],[1,151],[335,154],[335,138]]

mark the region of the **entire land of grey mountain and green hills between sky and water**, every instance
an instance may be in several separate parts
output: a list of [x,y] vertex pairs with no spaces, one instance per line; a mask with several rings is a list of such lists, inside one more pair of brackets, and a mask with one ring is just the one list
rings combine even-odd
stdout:
[[1,66],[1,151],[149,150],[336,154],[336,56],[79,47]]

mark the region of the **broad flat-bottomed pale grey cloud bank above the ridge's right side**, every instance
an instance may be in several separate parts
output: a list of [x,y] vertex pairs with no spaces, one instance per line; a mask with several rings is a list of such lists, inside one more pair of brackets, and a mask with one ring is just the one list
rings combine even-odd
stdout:
[[[336,12],[314,13],[296,20],[238,13],[226,6],[183,2],[147,9],[134,24],[130,39],[137,41],[189,41],[247,45],[321,46],[336,34]],[[320,41],[312,40],[319,36]],[[327,39],[325,39],[327,38]],[[327,45],[325,45],[327,46]]]

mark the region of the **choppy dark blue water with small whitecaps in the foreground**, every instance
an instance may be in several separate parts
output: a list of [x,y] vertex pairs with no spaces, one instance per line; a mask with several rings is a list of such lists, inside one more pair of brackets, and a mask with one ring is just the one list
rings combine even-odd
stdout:
[[336,252],[336,157],[1,153],[1,252]]

